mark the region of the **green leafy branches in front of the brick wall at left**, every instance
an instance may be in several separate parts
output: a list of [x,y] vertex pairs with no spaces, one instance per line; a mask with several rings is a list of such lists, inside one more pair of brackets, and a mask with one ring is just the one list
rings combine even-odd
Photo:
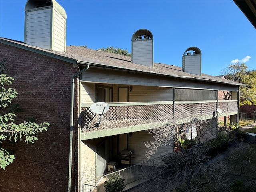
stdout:
[[[34,143],[38,140],[37,135],[39,132],[43,130],[47,130],[50,124],[48,122],[44,122],[41,124],[37,124],[35,122],[31,122],[29,120],[25,120],[23,123],[15,124],[14,118],[17,112],[20,110],[17,105],[14,107],[10,107],[12,100],[18,96],[18,92],[14,88],[10,88],[12,81],[14,78],[7,76],[4,73],[6,70],[6,59],[4,58],[0,64],[0,110],[9,107],[9,112],[6,114],[0,113],[0,144],[2,144],[5,140],[9,140],[10,142],[18,142],[25,138],[25,142]],[[1,112],[1,111],[0,111]],[[13,162],[15,156],[12,152],[7,149],[0,148],[0,168],[5,169],[6,166],[9,166],[10,163]]]

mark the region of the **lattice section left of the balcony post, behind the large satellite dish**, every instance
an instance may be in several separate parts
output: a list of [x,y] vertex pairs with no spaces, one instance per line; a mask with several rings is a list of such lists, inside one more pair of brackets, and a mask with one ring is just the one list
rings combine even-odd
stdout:
[[118,127],[136,126],[154,122],[172,120],[172,104],[110,106],[108,112],[102,115],[94,114],[89,107],[82,108],[79,124],[86,130],[112,129]]

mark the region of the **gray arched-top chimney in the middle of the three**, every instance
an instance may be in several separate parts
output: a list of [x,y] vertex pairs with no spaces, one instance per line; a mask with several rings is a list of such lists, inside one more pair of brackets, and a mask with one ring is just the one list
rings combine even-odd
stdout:
[[132,62],[154,67],[153,35],[147,29],[137,30],[132,35]]

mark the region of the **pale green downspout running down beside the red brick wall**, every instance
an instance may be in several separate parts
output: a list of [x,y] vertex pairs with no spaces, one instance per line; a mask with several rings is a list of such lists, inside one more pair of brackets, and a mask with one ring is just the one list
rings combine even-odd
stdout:
[[70,96],[70,139],[69,139],[69,168],[68,168],[68,192],[71,191],[71,170],[72,170],[72,146],[73,146],[73,110],[74,110],[74,78],[84,71],[88,70],[89,65],[78,73],[74,74],[71,78],[71,96]]

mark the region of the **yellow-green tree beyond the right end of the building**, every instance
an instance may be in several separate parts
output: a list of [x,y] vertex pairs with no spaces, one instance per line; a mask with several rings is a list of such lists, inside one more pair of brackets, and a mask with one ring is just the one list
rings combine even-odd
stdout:
[[[229,80],[246,84],[240,88],[240,106],[244,104],[256,105],[256,71],[248,71],[247,69],[248,66],[245,63],[235,63],[222,70]],[[230,93],[228,93],[227,98],[229,96]]]

